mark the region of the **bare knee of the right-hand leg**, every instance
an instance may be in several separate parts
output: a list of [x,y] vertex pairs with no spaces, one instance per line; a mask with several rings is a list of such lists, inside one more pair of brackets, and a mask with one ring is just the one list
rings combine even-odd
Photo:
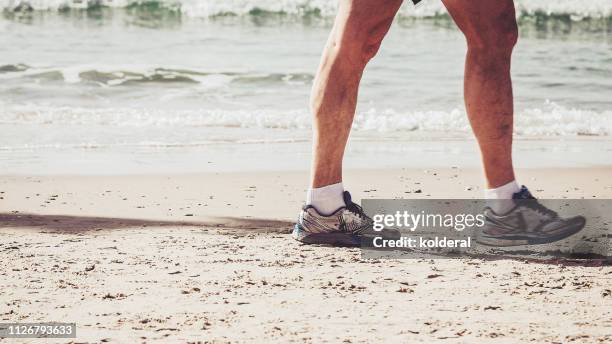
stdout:
[[502,16],[492,27],[466,34],[468,49],[481,56],[510,56],[518,41],[518,26],[514,16]]

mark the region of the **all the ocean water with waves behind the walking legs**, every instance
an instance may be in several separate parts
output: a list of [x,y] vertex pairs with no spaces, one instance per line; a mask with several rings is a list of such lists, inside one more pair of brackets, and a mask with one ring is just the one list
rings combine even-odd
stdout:
[[[524,165],[612,163],[612,0],[516,6]],[[308,95],[334,1],[0,0],[0,8],[2,172],[306,168]],[[362,81],[349,163],[404,166],[415,159],[385,156],[406,154],[436,165],[450,154],[454,164],[477,164],[464,54],[439,1],[405,3]]]

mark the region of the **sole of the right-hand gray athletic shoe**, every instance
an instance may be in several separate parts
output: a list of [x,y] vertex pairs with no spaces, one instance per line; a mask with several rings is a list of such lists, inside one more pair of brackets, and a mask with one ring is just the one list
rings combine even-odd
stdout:
[[574,222],[567,227],[559,229],[560,232],[550,236],[517,235],[508,234],[503,236],[477,236],[476,242],[486,246],[507,247],[521,245],[541,245],[550,244],[555,241],[563,240],[580,232],[586,224],[586,219],[582,216],[576,217]]

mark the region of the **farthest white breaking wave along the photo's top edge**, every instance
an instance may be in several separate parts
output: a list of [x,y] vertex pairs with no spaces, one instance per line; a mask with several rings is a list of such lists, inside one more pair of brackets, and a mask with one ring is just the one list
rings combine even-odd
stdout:
[[[519,17],[551,17],[573,21],[612,20],[612,0],[516,0]],[[138,8],[142,11],[172,11],[187,17],[260,16],[283,14],[329,17],[336,1],[330,0],[0,0],[4,11],[65,11],[70,9]],[[426,0],[419,8],[406,1],[400,17],[427,18],[446,16],[439,0]]]

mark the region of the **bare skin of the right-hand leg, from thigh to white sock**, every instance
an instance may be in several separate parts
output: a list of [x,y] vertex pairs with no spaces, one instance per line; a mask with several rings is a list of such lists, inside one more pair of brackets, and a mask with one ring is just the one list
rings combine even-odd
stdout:
[[510,57],[518,38],[513,0],[442,0],[468,51],[465,106],[482,153],[487,186],[514,181]]

